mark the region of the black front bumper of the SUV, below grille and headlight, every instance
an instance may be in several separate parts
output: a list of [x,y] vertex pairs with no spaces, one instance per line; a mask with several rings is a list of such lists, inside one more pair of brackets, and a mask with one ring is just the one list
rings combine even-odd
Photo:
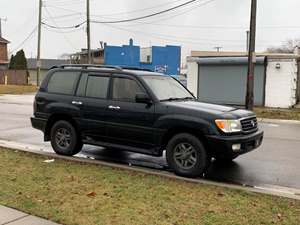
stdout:
[[[262,144],[263,135],[263,131],[238,136],[208,135],[207,140],[214,156],[220,158],[232,158],[258,148]],[[240,144],[241,149],[233,151],[232,146],[234,144]]]

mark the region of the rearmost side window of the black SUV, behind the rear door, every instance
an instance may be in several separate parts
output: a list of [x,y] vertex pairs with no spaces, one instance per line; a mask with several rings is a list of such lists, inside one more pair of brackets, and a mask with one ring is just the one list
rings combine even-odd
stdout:
[[48,83],[48,92],[72,95],[76,86],[79,72],[55,72]]

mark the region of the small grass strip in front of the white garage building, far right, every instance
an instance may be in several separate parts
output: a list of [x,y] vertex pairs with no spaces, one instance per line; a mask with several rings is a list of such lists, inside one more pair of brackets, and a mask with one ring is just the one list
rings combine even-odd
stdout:
[[257,117],[282,120],[300,120],[300,109],[255,108]]

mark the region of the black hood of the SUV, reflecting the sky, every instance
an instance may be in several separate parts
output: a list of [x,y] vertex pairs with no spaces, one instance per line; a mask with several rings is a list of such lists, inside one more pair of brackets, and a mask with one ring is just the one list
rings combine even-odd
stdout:
[[181,108],[188,111],[197,111],[205,114],[215,115],[218,118],[239,119],[254,116],[251,111],[238,109],[232,106],[217,105],[199,101],[169,101],[165,102],[169,107]]

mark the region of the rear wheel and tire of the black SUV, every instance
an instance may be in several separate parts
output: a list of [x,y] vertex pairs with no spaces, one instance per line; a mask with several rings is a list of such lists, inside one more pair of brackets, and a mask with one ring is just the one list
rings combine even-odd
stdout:
[[68,121],[57,121],[51,128],[51,146],[59,155],[73,156],[82,149],[82,141]]

